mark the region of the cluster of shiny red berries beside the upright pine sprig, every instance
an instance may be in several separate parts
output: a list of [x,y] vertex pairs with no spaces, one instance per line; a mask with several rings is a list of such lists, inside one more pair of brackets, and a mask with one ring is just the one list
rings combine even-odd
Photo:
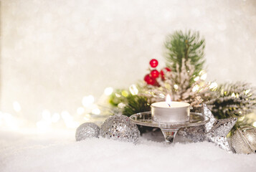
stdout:
[[150,69],[150,73],[144,77],[144,81],[146,81],[148,85],[159,86],[156,78],[158,78],[160,74],[161,79],[165,80],[165,72],[171,72],[171,70],[168,67],[164,67],[160,72],[158,72],[158,70],[155,69],[158,66],[157,59],[151,59],[149,65],[151,65],[151,68],[153,69]]

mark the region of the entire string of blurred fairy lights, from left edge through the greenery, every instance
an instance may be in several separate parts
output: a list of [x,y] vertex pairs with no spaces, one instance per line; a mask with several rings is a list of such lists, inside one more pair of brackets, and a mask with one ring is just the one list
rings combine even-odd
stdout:
[[[201,77],[196,77],[194,80],[199,80],[199,78],[201,80],[206,80],[207,73],[202,71],[200,76]],[[174,85],[174,87],[178,87],[178,85]],[[210,89],[216,89],[217,87],[218,85],[216,82],[211,82],[211,84],[209,85]],[[192,88],[193,92],[196,92],[198,90],[199,85],[195,85]],[[113,87],[106,87],[104,90],[104,96],[108,97],[113,93],[113,91]],[[132,95],[137,95],[139,92],[138,88],[134,84],[129,87],[128,91],[130,91]],[[124,97],[128,96],[128,91],[123,90],[121,92],[121,95],[123,95]],[[115,93],[116,97],[120,97],[121,95]],[[118,108],[124,107],[125,104],[123,102],[120,102],[118,104]],[[20,113],[22,111],[22,106],[17,101],[13,102],[13,108],[16,113]],[[49,110],[44,109],[41,113],[41,120],[37,121],[36,123],[33,123],[32,125],[31,123],[28,125],[28,121],[19,118],[18,115],[12,115],[10,113],[4,113],[0,111],[0,128],[8,130],[19,130],[21,128],[32,126],[32,128],[37,128],[37,131],[39,132],[47,132],[54,128],[77,128],[82,122],[95,122],[93,121],[95,120],[95,117],[107,118],[108,115],[105,115],[105,113],[102,114],[100,109],[100,106],[95,102],[95,97],[93,95],[87,95],[82,98],[82,106],[78,107],[76,112],[78,116],[82,117],[82,120],[81,118],[76,119],[75,116],[70,115],[70,113],[67,110],[62,110],[60,111],[61,113],[51,113],[49,112]],[[253,123],[253,126],[256,127],[256,122]]]

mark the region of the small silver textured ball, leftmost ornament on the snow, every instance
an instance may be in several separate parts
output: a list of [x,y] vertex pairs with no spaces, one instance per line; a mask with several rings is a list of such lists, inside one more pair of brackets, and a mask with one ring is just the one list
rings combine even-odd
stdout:
[[100,128],[95,123],[83,123],[81,124],[75,133],[75,140],[85,140],[86,138],[98,138],[100,134]]

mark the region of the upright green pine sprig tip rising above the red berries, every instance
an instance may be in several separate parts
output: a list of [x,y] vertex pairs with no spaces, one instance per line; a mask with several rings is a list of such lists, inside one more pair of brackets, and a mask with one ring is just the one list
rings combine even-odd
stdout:
[[176,31],[166,38],[165,47],[167,49],[167,66],[176,72],[176,65],[181,67],[182,59],[190,61],[195,67],[194,76],[198,76],[203,70],[205,42],[200,38],[199,32]]

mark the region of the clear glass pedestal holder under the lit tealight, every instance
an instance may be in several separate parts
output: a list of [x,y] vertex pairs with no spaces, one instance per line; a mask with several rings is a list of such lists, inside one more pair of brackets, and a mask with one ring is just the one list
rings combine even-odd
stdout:
[[151,118],[151,112],[136,113],[131,115],[133,123],[138,125],[160,128],[167,143],[173,143],[176,133],[180,128],[204,125],[209,122],[209,117],[201,113],[190,113],[189,121],[184,123],[160,123]]

